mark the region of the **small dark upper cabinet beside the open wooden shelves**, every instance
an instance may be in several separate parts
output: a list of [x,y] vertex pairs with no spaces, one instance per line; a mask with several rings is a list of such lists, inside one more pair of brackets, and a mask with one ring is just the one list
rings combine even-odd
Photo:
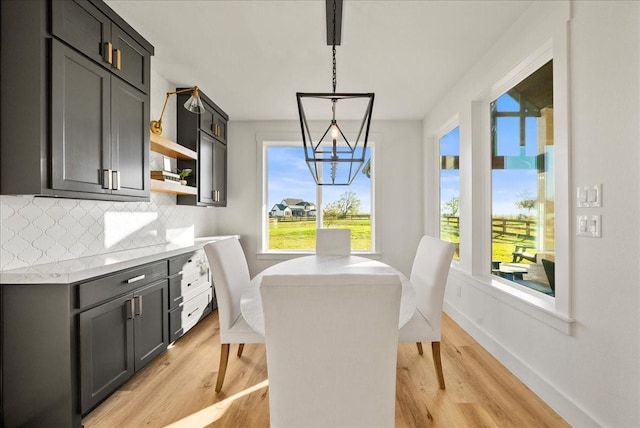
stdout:
[[229,117],[202,91],[202,114],[182,108],[190,94],[178,94],[178,144],[198,153],[197,160],[178,160],[178,169],[193,170],[187,179],[197,195],[178,195],[180,205],[227,206],[227,122]]

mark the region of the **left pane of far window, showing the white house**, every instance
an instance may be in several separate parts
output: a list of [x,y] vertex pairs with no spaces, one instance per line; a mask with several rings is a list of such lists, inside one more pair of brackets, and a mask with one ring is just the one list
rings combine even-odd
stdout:
[[316,247],[316,183],[302,145],[267,147],[269,250]]

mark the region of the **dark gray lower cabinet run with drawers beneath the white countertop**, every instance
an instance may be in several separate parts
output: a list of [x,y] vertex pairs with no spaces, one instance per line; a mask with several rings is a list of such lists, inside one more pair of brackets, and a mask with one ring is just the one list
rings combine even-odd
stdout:
[[215,308],[202,250],[75,283],[1,285],[0,426],[80,427]]

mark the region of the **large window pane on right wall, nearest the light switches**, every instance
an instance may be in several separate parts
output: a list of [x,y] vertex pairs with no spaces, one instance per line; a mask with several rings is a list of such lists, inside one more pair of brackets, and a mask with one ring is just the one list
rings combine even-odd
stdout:
[[553,296],[553,62],[491,104],[494,275]]

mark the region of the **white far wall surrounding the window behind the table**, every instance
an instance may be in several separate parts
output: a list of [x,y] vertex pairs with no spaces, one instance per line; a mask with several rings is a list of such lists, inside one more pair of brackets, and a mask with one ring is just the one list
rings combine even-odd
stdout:
[[[251,275],[278,262],[258,259],[256,134],[300,133],[297,121],[229,123],[228,205],[217,212],[218,233],[240,234]],[[408,273],[422,233],[422,122],[371,122],[376,141],[376,222],[382,261]],[[270,207],[269,207],[270,208]],[[280,259],[281,260],[281,259]]]

